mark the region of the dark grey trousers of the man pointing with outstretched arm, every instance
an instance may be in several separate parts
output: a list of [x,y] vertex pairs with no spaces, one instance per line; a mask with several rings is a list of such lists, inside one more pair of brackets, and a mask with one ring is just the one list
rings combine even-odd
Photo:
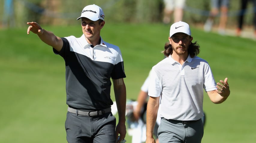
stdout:
[[111,112],[86,117],[67,112],[65,128],[68,143],[115,143],[116,118]]

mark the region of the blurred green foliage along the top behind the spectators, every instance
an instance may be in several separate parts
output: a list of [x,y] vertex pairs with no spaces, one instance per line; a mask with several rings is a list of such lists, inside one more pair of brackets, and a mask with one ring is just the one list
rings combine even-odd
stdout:
[[[22,27],[28,21],[48,25],[73,25],[76,24],[75,19],[79,17],[82,9],[89,4],[102,7],[106,21],[159,23],[162,22],[164,7],[163,0],[13,0],[13,4],[14,17],[10,18],[10,21],[15,23],[15,27]],[[186,6],[183,21],[193,24],[203,24],[206,21],[207,13],[210,11],[210,0],[187,0]],[[227,27],[236,25],[239,7],[240,0],[230,1],[229,12],[232,15],[228,17]],[[245,25],[253,23],[255,12],[252,11],[252,7],[252,2],[249,2],[250,11],[245,16]],[[4,17],[4,0],[0,1],[0,15]],[[1,18],[0,21],[2,20]],[[216,24],[218,21],[219,18],[215,18]]]

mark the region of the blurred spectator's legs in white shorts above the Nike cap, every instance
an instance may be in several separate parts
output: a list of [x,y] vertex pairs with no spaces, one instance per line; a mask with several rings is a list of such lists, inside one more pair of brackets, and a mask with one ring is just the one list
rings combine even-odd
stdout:
[[164,1],[164,16],[163,23],[169,24],[171,22],[171,14],[173,13],[174,22],[182,21],[183,8],[186,0],[163,0]]

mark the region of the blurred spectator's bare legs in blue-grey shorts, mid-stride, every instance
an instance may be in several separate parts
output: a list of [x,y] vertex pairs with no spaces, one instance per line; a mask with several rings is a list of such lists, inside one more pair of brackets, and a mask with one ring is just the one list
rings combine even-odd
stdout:
[[211,0],[211,11],[210,16],[204,24],[204,31],[210,32],[213,26],[214,18],[219,14],[220,10],[220,18],[219,18],[219,28],[218,32],[221,35],[225,34],[225,28],[228,19],[228,6],[229,0]]

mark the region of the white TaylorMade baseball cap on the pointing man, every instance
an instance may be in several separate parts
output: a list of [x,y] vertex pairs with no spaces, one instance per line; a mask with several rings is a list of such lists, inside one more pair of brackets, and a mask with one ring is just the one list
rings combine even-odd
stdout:
[[89,18],[92,21],[97,21],[99,19],[104,20],[105,15],[103,13],[103,10],[99,6],[92,4],[92,5],[86,6],[82,11],[81,16],[76,20],[82,17]]

